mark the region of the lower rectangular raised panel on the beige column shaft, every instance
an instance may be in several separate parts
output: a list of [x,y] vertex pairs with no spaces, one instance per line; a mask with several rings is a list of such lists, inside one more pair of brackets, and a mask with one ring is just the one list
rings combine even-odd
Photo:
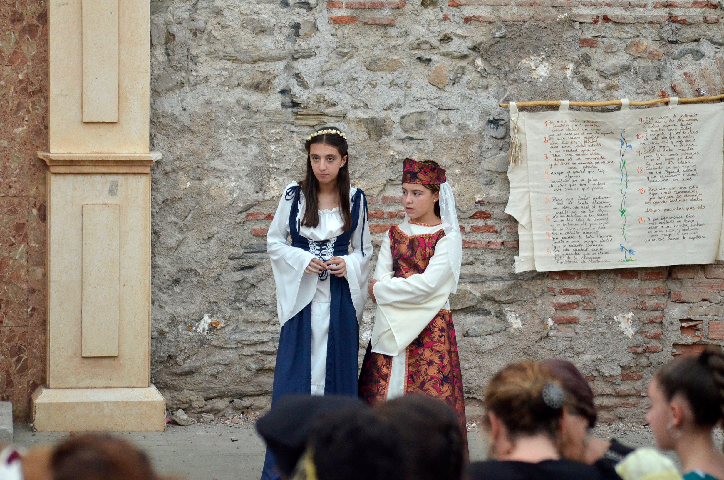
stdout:
[[120,206],[83,205],[81,355],[118,356]]

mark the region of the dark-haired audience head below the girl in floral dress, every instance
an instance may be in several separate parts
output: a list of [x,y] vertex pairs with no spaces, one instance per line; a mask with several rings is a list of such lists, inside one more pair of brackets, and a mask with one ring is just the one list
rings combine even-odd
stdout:
[[459,480],[465,463],[460,421],[444,402],[407,395],[380,405],[376,413],[400,435],[407,479]]

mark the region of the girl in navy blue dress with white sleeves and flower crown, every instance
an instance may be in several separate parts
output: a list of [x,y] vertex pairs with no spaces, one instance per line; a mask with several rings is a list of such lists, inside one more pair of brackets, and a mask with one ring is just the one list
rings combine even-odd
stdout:
[[[344,133],[323,128],[305,148],[306,178],[287,186],[266,236],[282,323],[272,404],[289,394],[357,395],[372,254],[367,202],[350,186]],[[267,450],[261,479],[277,478]]]

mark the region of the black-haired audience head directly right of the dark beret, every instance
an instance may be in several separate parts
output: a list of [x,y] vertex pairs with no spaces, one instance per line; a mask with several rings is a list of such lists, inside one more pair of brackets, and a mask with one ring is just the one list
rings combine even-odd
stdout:
[[[372,410],[338,410],[313,427],[307,455],[316,480],[399,480],[405,463],[397,429]],[[310,479],[309,463],[306,464]]]

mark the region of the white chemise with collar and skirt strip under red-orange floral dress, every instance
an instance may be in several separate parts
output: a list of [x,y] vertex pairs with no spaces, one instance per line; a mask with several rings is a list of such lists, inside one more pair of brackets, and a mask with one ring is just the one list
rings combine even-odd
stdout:
[[[408,236],[435,233],[442,225],[426,226],[400,223]],[[373,278],[377,311],[372,328],[372,352],[392,356],[387,400],[402,397],[405,392],[405,352],[442,309],[450,309],[450,292],[455,278],[450,267],[450,238],[442,237],[423,273],[408,278],[394,277],[390,239],[385,236]]]

